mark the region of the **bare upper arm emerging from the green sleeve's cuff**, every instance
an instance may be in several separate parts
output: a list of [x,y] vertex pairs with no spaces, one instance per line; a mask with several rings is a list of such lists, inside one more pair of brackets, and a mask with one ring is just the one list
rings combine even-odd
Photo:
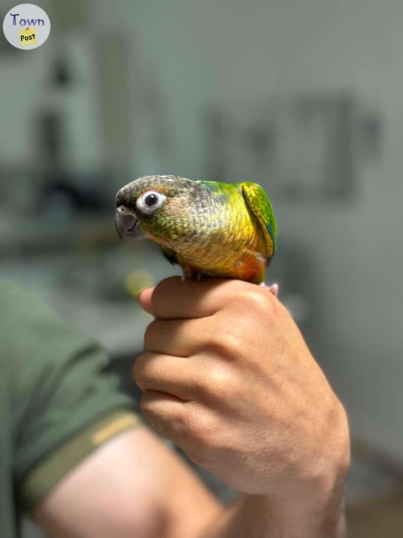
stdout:
[[146,426],[93,452],[35,507],[52,538],[196,538],[221,506]]

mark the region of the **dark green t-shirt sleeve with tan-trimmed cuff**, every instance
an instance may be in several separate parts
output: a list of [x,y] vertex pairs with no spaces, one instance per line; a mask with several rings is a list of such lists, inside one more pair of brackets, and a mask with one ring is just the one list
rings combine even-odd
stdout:
[[0,298],[5,313],[0,352],[10,365],[13,473],[20,504],[30,508],[55,478],[140,421],[116,377],[104,373],[109,358],[98,342],[15,285],[0,286]]

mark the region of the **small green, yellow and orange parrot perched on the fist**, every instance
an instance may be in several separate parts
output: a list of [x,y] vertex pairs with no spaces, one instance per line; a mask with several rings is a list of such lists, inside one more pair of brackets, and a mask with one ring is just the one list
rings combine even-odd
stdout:
[[[162,246],[183,279],[232,278],[264,287],[276,249],[270,200],[257,183],[224,183],[149,175],[116,195],[116,231]],[[269,287],[277,295],[277,285]]]

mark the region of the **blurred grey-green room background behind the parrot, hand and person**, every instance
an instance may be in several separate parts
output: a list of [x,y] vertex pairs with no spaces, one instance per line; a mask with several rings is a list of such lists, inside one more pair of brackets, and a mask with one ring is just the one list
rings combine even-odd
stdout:
[[38,5],[45,45],[0,38],[0,276],[98,337],[136,398],[133,294],[178,271],[119,241],[114,194],[149,174],[260,183],[279,229],[267,281],[348,410],[350,536],[401,536],[401,2]]

